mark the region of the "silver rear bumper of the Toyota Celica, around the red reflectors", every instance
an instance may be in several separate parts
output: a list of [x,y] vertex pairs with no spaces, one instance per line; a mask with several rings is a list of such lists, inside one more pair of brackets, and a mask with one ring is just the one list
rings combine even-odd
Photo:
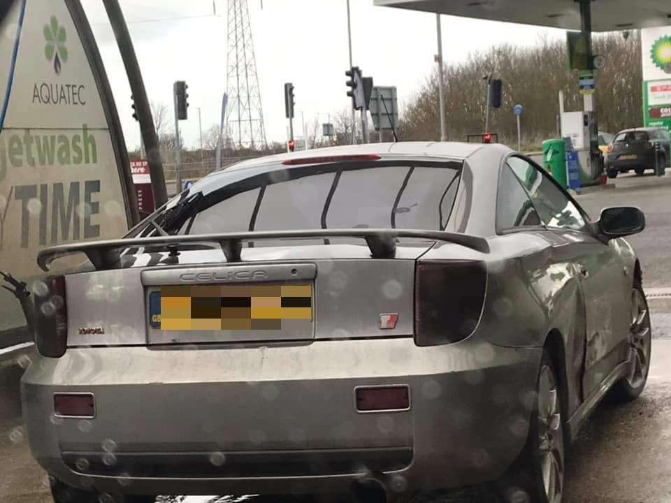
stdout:
[[[72,486],[343,493],[384,472],[431,490],[496,479],[517,458],[539,360],[474,340],[69,349],[34,360],[22,398],[34,457]],[[381,384],[407,384],[410,410],[356,411],[354,388]],[[55,417],[53,393],[68,391],[94,393],[96,416]]]

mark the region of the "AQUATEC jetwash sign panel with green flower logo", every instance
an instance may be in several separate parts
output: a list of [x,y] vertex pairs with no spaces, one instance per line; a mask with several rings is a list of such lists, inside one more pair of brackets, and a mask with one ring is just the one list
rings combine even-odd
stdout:
[[[44,247],[118,238],[131,224],[123,140],[80,12],[78,0],[17,0],[0,26],[0,270],[23,280]],[[0,289],[0,347],[24,323]]]

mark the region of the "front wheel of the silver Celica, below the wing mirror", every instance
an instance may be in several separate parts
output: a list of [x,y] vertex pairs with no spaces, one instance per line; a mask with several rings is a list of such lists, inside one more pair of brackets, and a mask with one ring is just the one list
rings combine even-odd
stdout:
[[643,392],[650,370],[652,328],[648,302],[640,282],[631,291],[628,372],[610,392],[614,402],[631,402]]

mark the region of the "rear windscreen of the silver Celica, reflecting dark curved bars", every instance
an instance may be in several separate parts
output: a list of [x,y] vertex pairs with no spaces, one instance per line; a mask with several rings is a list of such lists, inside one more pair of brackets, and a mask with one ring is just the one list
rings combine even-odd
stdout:
[[[461,165],[280,168],[226,184],[199,184],[159,214],[170,234],[294,231],[319,228],[444,230]],[[231,172],[234,173],[234,172]]]

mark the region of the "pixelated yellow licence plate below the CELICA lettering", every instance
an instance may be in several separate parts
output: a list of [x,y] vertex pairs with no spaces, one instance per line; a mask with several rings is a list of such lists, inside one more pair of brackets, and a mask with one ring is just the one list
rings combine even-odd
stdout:
[[150,293],[149,320],[160,330],[282,330],[283,320],[309,326],[312,286],[161,286]]

